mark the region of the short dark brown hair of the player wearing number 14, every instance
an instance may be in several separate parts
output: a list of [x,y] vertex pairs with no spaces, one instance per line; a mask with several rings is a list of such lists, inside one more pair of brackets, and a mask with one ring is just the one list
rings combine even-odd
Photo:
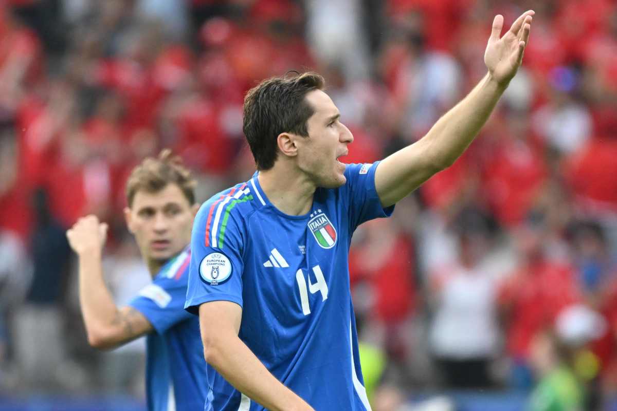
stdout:
[[258,170],[274,166],[276,137],[281,132],[309,136],[307,120],[315,110],[304,97],[324,86],[322,76],[308,71],[293,77],[269,78],[247,92],[242,129]]

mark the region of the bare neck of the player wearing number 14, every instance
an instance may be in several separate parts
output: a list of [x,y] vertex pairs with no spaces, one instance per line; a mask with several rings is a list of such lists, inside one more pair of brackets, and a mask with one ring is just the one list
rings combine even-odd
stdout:
[[290,216],[302,216],[313,205],[315,185],[305,176],[289,170],[276,169],[276,166],[260,171],[259,185],[268,200],[278,210]]

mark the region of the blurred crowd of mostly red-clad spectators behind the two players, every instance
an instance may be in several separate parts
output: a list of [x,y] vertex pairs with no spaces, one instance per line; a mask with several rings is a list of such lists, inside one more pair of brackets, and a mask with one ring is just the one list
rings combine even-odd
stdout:
[[476,142],[355,234],[366,385],[376,411],[433,394],[435,410],[617,409],[617,1],[0,5],[0,404],[143,398],[143,341],[87,344],[64,232],[109,222],[119,304],[149,282],[122,214],[144,157],[172,148],[201,200],[248,179],[244,92],[315,70],[354,132],[346,162],[381,159],[484,76],[495,14],[509,27],[533,8],[523,67]]

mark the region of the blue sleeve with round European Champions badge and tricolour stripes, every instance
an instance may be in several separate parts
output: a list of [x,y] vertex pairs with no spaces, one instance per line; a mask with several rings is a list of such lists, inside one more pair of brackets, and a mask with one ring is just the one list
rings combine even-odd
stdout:
[[224,201],[208,201],[197,213],[191,235],[191,263],[184,308],[199,313],[210,301],[242,306],[243,235],[234,213],[224,213]]

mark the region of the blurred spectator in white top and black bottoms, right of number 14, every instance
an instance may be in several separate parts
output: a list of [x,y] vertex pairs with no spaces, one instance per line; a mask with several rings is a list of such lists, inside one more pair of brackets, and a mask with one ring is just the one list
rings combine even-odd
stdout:
[[455,221],[457,260],[431,278],[432,354],[448,388],[490,388],[496,382],[491,362],[501,343],[499,278],[483,263],[491,251],[495,227],[478,210],[465,210]]

